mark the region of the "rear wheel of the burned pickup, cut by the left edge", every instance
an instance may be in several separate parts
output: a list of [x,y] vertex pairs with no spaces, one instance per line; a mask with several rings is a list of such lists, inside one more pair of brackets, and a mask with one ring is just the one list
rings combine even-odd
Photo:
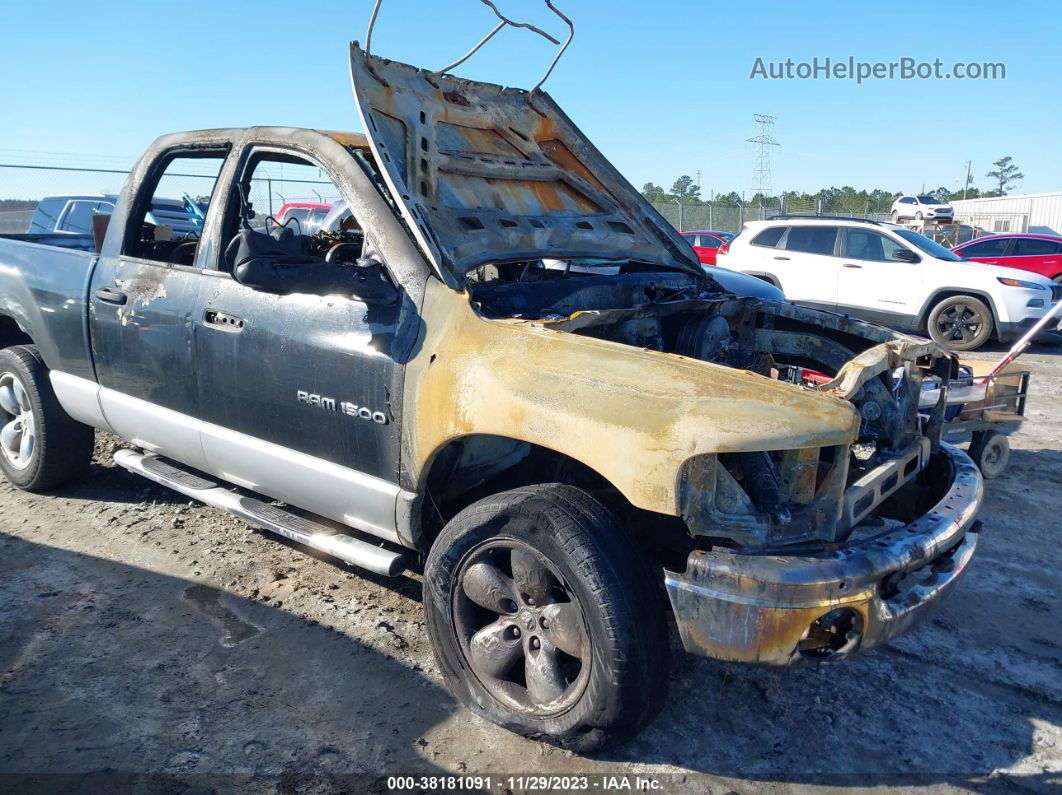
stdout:
[[0,471],[44,491],[84,477],[96,432],[63,411],[33,345],[0,350]]

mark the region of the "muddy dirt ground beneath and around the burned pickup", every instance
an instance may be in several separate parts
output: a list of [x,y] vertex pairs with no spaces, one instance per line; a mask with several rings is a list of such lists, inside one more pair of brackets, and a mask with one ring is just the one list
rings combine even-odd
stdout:
[[605,773],[692,792],[1046,792],[1062,781],[1062,347],[1023,361],[1029,421],[988,486],[978,557],[935,619],[839,666],[678,654],[664,713],[595,758],[455,705],[416,576],[308,556],[115,467],[101,436],[75,486],[0,483],[0,773],[90,789],[113,782],[85,774],[153,774],[173,791]]

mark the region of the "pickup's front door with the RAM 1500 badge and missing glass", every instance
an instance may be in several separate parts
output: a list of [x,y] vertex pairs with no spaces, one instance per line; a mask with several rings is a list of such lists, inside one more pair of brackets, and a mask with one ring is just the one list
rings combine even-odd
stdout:
[[[271,200],[276,206],[315,201],[337,209],[327,229],[303,229],[291,220],[278,231],[264,213],[251,224],[290,236],[310,258],[338,246],[331,266],[352,267],[364,234],[343,212],[328,171],[276,149],[251,150],[242,160],[237,172],[242,191],[230,191],[223,243],[239,231],[249,202],[260,211]],[[400,386],[395,386],[393,346],[399,317],[410,313],[404,315],[400,299],[381,306],[344,295],[249,287],[234,277],[235,246],[221,250],[194,317],[209,470],[395,539]]]

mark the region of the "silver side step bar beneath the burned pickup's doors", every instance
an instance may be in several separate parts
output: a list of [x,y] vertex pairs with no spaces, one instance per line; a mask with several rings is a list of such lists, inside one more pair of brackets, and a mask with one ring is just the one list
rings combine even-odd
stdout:
[[136,450],[118,450],[115,452],[115,463],[193,500],[227,511],[256,528],[305,543],[344,563],[360,566],[377,574],[397,576],[409,566],[407,557],[400,552],[343,535],[332,528],[296,516],[254,497],[244,497],[213,481],[181,469],[157,455]]

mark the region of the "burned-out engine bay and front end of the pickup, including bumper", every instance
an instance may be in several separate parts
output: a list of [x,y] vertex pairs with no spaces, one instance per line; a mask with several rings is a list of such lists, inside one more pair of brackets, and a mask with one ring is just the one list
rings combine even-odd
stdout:
[[[788,666],[889,640],[939,602],[977,543],[980,476],[940,442],[943,398],[919,408],[923,378],[946,384],[955,359],[846,316],[681,282],[569,274],[536,283],[534,306],[503,281],[473,295],[485,314],[764,379],[763,398],[754,386],[727,393],[722,379],[704,395],[732,401],[735,427],[715,429],[713,451],[678,474],[688,546],[665,576],[687,651]],[[749,402],[780,381],[815,396],[803,404],[809,428],[822,425],[817,412],[849,417],[843,442],[817,446],[770,411],[750,424]]]

